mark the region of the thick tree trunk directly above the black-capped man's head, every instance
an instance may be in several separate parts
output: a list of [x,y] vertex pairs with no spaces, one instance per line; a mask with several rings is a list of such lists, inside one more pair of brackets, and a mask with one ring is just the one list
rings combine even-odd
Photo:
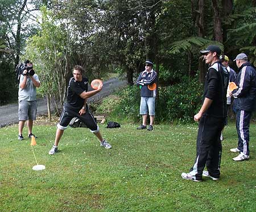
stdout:
[[219,42],[223,42],[222,27],[221,27],[221,15],[220,8],[217,0],[212,0],[213,7],[213,27],[214,27],[214,38]]

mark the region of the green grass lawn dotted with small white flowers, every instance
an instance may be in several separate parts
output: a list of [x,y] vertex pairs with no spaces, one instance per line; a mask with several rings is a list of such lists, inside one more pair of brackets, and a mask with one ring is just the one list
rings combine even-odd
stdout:
[[[154,131],[121,124],[102,135],[100,147],[86,128],[68,128],[56,155],[48,155],[56,127],[35,124],[30,139],[18,141],[18,126],[0,129],[0,211],[255,211],[256,125],[250,126],[250,160],[234,162],[234,123],[224,131],[221,178],[183,180],[196,153],[197,125],[156,125]],[[24,128],[23,135],[27,134]]]

